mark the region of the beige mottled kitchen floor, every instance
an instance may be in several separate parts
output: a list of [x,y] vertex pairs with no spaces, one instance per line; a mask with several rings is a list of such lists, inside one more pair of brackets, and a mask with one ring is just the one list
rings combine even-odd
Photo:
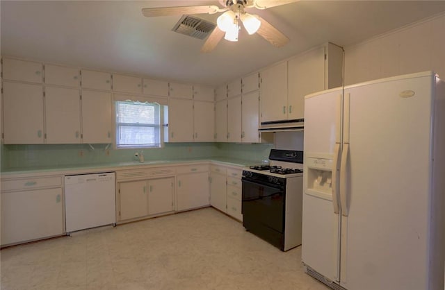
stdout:
[[1,289],[328,289],[300,256],[208,207],[5,248]]

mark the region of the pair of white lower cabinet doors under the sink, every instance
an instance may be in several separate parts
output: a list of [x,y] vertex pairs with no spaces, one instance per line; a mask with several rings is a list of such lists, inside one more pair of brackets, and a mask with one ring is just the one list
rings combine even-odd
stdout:
[[174,178],[119,182],[120,221],[172,212]]

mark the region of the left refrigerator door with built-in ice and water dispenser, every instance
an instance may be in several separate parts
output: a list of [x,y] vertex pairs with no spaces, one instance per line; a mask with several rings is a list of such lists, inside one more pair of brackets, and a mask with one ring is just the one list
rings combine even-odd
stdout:
[[339,280],[340,216],[333,189],[338,183],[341,101],[342,89],[305,99],[302,262],[332,281]]

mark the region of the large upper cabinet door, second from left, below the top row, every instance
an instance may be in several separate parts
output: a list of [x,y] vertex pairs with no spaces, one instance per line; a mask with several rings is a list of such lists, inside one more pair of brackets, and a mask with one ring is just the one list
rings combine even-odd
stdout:
[[46,87],[45,114],[48,144],[81,142],[79,89]]

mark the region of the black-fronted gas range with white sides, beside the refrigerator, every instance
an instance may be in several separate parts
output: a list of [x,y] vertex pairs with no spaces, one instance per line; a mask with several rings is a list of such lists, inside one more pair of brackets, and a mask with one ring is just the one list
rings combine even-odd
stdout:
[[301,244],[302,151],[272,149],[241,178],[243,226],[280,250]]

